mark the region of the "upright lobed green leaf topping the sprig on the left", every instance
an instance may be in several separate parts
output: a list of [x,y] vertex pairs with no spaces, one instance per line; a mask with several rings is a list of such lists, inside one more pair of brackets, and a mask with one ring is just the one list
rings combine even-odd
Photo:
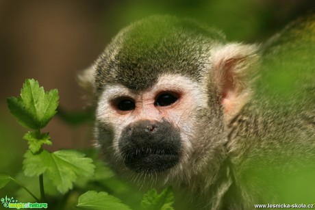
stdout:
[[39,130],[47,125],[58,107],[58,90],[45,92],[38,81],[27,79],[21,90],[21,97],[7,99],[11,114],[24,127]]

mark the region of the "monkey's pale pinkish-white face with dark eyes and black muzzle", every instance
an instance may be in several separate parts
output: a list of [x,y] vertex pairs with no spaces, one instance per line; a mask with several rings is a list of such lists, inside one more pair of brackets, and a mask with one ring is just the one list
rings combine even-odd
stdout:
[[[105,86],[97,107],[97,138],[115,168],[137,173],[184,168],[205,101],[197,83],[164,75],[148,90]],[[198,102],[198,103],[196,103]]]

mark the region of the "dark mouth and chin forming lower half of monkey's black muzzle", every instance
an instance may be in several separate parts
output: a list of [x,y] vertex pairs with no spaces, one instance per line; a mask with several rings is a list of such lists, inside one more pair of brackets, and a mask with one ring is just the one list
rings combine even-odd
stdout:
[[172,168],[179,161],[179,153],[169,150],[136,150],[124,154],[125,165],[135,172],[163,172]]

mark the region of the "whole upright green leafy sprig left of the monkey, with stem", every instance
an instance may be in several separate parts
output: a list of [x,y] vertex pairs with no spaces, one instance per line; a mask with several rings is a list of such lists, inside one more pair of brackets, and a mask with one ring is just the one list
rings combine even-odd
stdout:
[[[36,200],[45,201],[44,174],[62,194],[72,189],[77,176],[93,176],[95,166],[92,159],[85,157],[83,153],[76,150],[58,150],[50,153],[42,148],[43,144],[52,145],[49,133],[41,133],[41,129],[57,113],[58,90],[45,92],[38,81],[27,79],[21,89],[21,96],[10,97],[7,103],[16,120],[23,127],[32,130],[23,136],[29,145],[29,150],[24,155],[23,172],[25,176],[38,176],[40,199],[26,189],[31,196]],[[13,180],[10,176],[10,179],[3,177],[3,183]]]

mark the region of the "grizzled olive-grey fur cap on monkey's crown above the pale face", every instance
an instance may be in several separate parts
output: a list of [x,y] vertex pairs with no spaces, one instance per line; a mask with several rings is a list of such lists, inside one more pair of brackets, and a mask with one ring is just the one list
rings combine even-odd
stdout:
[[160,75],[200,79],[214,42],[222,34],[190,20],[153,16],[123,29],[97,61],[98,91],[106,83],[146,90]]

